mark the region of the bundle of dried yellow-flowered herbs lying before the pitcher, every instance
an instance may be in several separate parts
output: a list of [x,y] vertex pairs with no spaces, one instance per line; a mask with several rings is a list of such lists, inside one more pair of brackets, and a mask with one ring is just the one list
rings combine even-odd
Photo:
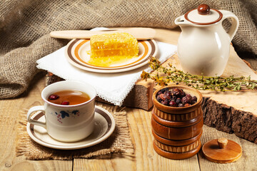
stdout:
[[[251,80],[251,76],[246,77],[234,77],[229,76],[223,78],[221,76],[209,77],[198,76],[190,73],[184,73],[173,67],[168,63],[168,67],[161,66],[158,59],[151,57],[149,60],[149,66],[153,69],[152,73],[141,73],[141,78],[147,80],[151,78],[160,86],[166,86],[168,83],[185,83],[187,86],[191,86],[198,90],[242,90],[242,89],[256,89],[257,81]],[[159,73],[164,73],[164,76],[159,76]]]

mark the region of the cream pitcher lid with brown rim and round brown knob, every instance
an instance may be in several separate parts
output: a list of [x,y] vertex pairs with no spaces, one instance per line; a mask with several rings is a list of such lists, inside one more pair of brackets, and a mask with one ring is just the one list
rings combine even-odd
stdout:
[[192,9],[185,14],[185,19],[193,24],[208,25],[214,24],[222,19],[221,11],[210,9],[210,6],[201,4],[198,9]]

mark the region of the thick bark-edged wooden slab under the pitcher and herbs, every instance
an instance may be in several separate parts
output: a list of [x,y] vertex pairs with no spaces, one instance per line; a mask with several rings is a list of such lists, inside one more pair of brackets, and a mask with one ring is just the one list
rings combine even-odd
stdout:
[[[177,44],[180,30],[156,29],[156,41]],[[172,63],[181,69],[178,56],[175,54],[168,59],[164,66]],[[236,53],[231,45],[230,56],[224,77],[251,76],[257,80],[257,74]],[[60,78],[50,75],[46,84],[59,81]],[[153,81],[137,81],[129,95],[124,100],[126,107],[151,110],[153,103],[151,97],[156,88]],[[238,92],[219,92],[201,90],[203,94],[203,119],[204,124],[226,133],[234,133],[257,144],[257,90],[244,90]],[[104,101],[98,98],[99,101]]]

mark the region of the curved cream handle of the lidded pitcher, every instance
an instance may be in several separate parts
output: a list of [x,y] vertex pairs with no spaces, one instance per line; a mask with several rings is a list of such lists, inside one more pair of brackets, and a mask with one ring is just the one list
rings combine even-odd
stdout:
[[232,41],[233,37],[236,34],[236,31],[238,30],[238,26],[239,26],[238,17],[235,14],[233,14],[231,11],[225,11],[225,10],[220,10],[220,11],[223,14],[223,20],[228,18],[232,19],[232,25],[228,31],[229,39],[230,41]]

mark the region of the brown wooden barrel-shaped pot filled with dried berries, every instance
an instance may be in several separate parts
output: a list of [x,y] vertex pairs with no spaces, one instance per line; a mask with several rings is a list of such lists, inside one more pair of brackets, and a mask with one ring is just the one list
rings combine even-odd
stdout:
[[163,105],[156,99],[160,88],[153,93],[151,125],[153,130],[153,148],[161,156],[170,159],[185,159],[196,155],[201,149],[203,132],[203,111],[201,93],[188,86],[167,86],[182,89],[186,94],[196,96],[197,101],[188,107]]

